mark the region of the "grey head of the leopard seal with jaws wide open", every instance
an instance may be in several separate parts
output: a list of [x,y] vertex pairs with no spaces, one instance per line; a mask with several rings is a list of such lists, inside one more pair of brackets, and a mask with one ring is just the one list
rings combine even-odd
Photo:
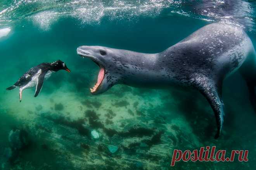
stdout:
[[77,54],[83,58],[90,58],[99,67],[99,75],[97,83],[90,88],[92,94],[100,94],[106,92],[113,85],[118,83],[120,76],[115,65],[118,54],[115,49],[102,46],[80,46],[77,48]]

